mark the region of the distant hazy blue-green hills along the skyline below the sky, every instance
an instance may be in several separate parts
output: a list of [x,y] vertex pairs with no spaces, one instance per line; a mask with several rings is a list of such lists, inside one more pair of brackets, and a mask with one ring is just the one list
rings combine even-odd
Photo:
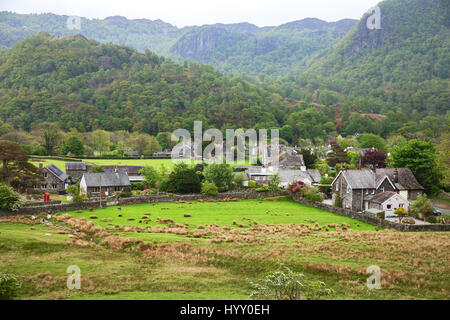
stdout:
[[341,39],[357,22],[326,22],[308,18],[276,27],[249,23],[177,28],[161,20],[114,16],[81,18],[80,29],[67,28],[68,16],[0,12],[0,47],[11,47],[27,36],[48,32],[55,36],[82,34],[103,43],[151,50],[183,63],[191,60],[230,74],[282,75],[303,71],[306,60]]

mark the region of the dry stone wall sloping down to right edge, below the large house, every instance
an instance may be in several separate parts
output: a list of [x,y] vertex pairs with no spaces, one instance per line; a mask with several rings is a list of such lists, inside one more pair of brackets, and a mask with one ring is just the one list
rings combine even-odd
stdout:
[[311,205],[313,207],[316,207],[318,209],[322,209],[322,210],[326,210],[326,211],[331,211],[343,216],[347,216],[350,218],[354,218],[354,219],[358,219],[361,221],[365,221],[367,223],[376,225],[376,226],[380,226],[380,227],[385,227],[385,228],[390,228],[390,229],[395,229],[398,231],[405,231],[405,232],[418,232],[418,231],[450,231],[450,224],[427,224],[427,225],[414,225],[414,224],[398,224],[395,222],[391,222],[391,221],[387,221],[387,220],[381,220],[375,217],[371,217],[368,215],[364,215],[362,213],[358,213],[356,211],[352,211],[349,209],[344,209],[344,208],[338,208],[329,204],[325,204],[325,203],[321,203],[321,202],[314,202],[314,203],[309,203],[304,201],[303,199],[299,198],[299,197],[295,197],[293,196],[292,199],[295,202],[298,203],[302,203],[302,204],[306,204],[306,205]]

